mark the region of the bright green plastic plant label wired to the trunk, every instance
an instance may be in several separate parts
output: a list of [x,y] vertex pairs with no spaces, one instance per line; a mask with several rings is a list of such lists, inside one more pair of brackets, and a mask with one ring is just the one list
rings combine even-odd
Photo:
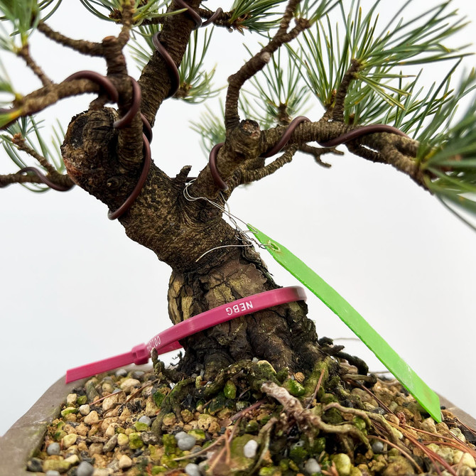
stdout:
[[323,278],[309,268],[301,259],[295,256],[283,245],[274,241],[266,234],[248,224],[256,239],[266,246],[271,256],[298,278],[320,301],[330,308],[339,318],[355,332],[362,342],[369,347],[377,358],[394,374],[396,379],[413,395],[423,409],[438,422],[441,421],[440,399],[438,395],[413,372],[406,362],[390,347],[379,333],[367,323],[352,305],[347,303],[335,289],[326,283]]

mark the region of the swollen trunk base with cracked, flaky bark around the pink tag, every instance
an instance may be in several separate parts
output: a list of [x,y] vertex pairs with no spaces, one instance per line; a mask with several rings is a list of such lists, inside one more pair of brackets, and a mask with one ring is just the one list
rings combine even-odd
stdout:
[[[168,290],[168,311],[173,323],[239,298],[277,288],[259,255],[248,248],[234,249],[207,262],[203,269],[173,272]],[[303,301],[217,325],[183,342],[183,371],[205,378],[242,359],[266,359],[276,370],[310,370],[320,358],[313,321]]]

